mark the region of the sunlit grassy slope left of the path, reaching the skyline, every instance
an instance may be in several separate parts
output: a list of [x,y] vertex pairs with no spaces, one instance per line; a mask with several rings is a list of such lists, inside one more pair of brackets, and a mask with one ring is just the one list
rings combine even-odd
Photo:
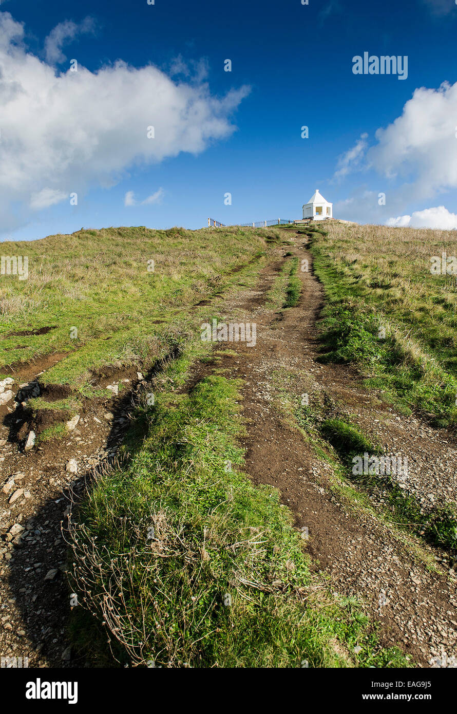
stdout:
[[[267,239],[276,244],[279,237],[140,226],[3,243],[4,253],[28,256],[29,278],[0,278],[0,373],[2,365],[59,353],[63,359],[42,383],[84,390],[106,364],[154,361],[187,321],[189,306],[258,271]],[[44,327],[51,330],[14,335]]]

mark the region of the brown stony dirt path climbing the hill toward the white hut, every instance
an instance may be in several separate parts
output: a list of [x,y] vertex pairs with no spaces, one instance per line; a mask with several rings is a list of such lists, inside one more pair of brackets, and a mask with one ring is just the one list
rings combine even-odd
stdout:
[[[306,258],[310,269],[300,272],[303,291],[298,306],[275,311],[267,293],[281,263],[263,271],[256,291],[238,296],[221,320],[255,322],[256,346],[221,343],[236,356],[221,356],[216,369],[243,379],[243,418],[248,436],[246,471],[254,483],[280,489],[297,528],[308,528],[308,553],[328,576],[335,593],[355,596],[381,624],[383,645],[400,645],[422,666],[457,666],[456,573],[446,553],[425,545],[411,546],[386,528],[376,513],[358,509],[333,486],[332,469],[316,457],[313,447],[289,426],[274,401],[281,386],[307,393],[309,399],[338,403],[363,431],[378,436],[386,453],[408,456],[408,488],[421,498],[456,501],[456,447],[443,431],[418,418],[399,416],[361,385],[353,369],[316,361],[316,320],[323,303],[322,288],[312,273],[312,256],[303,236],[294,238],[293,255]],[[196,366],[194,378],[202,371]],[[376,506],[376,504],[375,504]],[[378,506],[382,508],[382,503]],[[414,543],[435,565],[427,568],[414,555]]]

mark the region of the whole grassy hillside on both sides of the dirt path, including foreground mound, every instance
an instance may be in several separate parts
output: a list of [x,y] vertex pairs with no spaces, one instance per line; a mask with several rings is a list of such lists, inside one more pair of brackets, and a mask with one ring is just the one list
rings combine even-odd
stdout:
[[29,363],[59,357],[27,403],[37,423],[56,413],[42,440],[59,449],[66,419],[106,404],[101,376],[112,368],[144,373],[154,388],[153,403],[132,395],[128,420],[121,413],[119,460],[91,474],[67,534],[83,605],[71,639],[92,664],[411,665],[381,645],[361,603],[328,590],[278,489],[253,485],[240,446],[243,380],[219,369],[237,354],[202,342],[199,324],[226,316],[267,265],[269,302],[257,307],[275,325],[299,311],[300,236],[311,236],[326,291],[321,359],[353,362],[403,411],[453,423],[456,296],[429,256],[452,255],[455,239],[329,221],[303,226],[292,244],[296,231],[108,228],[3,246],[29,257],[29,278],[1,277],[1,376],[19,383]]

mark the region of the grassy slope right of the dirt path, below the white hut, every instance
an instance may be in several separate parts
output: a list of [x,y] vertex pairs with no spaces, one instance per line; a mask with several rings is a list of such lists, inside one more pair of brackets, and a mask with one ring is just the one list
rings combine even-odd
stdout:
[[326,293],[321,359],[356,363],[385,401],[455,423],[457,293],[429,270],[441,246],[456,253],[455,232],[331,223],[309,234]]

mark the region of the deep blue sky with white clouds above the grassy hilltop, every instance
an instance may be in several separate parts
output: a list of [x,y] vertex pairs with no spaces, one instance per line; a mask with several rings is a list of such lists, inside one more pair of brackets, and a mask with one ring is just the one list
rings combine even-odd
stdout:
[[[315,188],[337,218],[457,227],[454,0],[1,0],[0,23],[1,240],[299,218]],[[353,74],[364,51],[408,76]]]

